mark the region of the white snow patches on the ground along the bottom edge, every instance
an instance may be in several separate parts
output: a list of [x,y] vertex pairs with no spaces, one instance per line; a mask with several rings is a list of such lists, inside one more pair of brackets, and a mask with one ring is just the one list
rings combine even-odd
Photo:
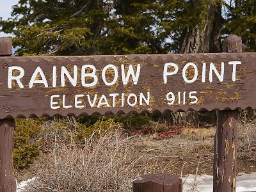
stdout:
[[[244,192],[244,191],[256,191],[256,173],[238,173],[239,176],[236,177],[236,192]],[[22,181],[17,184],[17,192],[22,192],[22,189],[28,184],[28,182],[33,182],[37,177],[33,177],[32,179],[28,179],[26,181]],[[187,175],[182,178],[184,185],[183,191],[190,192],[193,191],[193,187],[195,184],[194,191],[195,192],[212,192],[212,176],[210,175]]]

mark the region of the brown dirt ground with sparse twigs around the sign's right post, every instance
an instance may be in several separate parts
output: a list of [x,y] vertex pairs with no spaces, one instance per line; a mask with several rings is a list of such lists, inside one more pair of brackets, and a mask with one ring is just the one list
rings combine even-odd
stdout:
[[[152,140],[144,136],[134,140],[137,154],[150,154],[155,157],[159,172],[177,176],[188,174],[212,175],[214,138],[190,140],[174,136],[164,140]],[[256,172],[256,162],[249,161],[237,154],[237,173]]]

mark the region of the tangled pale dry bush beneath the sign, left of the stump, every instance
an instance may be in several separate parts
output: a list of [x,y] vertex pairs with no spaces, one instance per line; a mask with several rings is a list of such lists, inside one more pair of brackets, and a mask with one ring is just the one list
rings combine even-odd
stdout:
[[122,135],[122,131],[106,132],[99,140],[91,137],[83,143],[74,143],[72,135],[76,130],[68,129],[66,122],[63,124],[67,129],[58,129],[56,122],[45,127],[48,154],[38,160],[35,167],[38,179],[26,191],[127,192],[131,191],[134,177],[154,168],[148,164],[150,160],[156,162],[154,159],[131,154],[132,138]]

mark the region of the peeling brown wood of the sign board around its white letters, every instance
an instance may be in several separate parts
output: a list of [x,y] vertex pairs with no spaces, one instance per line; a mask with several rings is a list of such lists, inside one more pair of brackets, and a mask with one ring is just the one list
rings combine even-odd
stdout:
[[[129,112],[152,112],[152,111],[211,111],[223,109],[245,109],[256,108],[254,98],[256,95],[256,67],[254,61],[256,53],[220,53],[220,54],[158,54],[158,55],[129,55],[129,56],[59,56],[59,57],[3,57],[0,58],[0,118],[21,118],[33,116],[65,116],[65,115],[92,115],[93,113],[129,113]],[[241,65],[236,66],[236,81],[232,81],[234,66],[228,65],[229,61],[241,61]],[[176,63],[179,66],[177,74],[167,77],[167,83],[163,82],[163,69],[165,63]],[[198,68],[198,77],[193,83],[186,83],[182,77],[184,66],[193,62]],[[205,83],[202,83],[202,70],[205,64],[206,76]],[[221,62],[224,62],[223,82],[212,72],[212,82],[209,81],[209,66],[214,63],[218,72],[221,71]],[[102,70],[109,63],[118,69],[118,79],[112,86],[107,86],[102,81]],[[129,83],[123,84],[121,78],[121,65],[125,70],[132,65],[136,71],[136,66],[140,63],[141,71],[138,84],[133,84],[130,78]],[[77,86],[73,86],[66,81],[65,86],[60,84],[61,66],[65,66],[72,75],[73,66],[77,65]],[[83,65],[94,65],[97,69],[99,81],[95,86],[84,87],[81,85],[81,67]],[[24,88],[20,88],[16,81],[12,81],[12,88],[8,88],[8,68],[19,66],[24,68],[24,77],[20,79]],[[29,81],[36,67],[40,66],[44,72],[49,87],[44,84],[34,84],[29,88]],[[52,87],[52,67],[57,68],[56,87]],[[173,68],[168,68],[173,72]],[[19,72],[13,72],[13,76],[19,75]],[[195,76],[195,70],[189,68],[186,70],[186,77],[192,79]],[[113,70],[106,73],[108,82],[114,78]],[[38,79],[42,79],[38,77]],[[66,78],[67,79],[67,78]],[[92,80],[92,79],[91,79]],[[88,80],[89,81],[89,80]],[[189,92],[196,91],[198,102],[191,104]],[[137,96],[140,93],[147,95],[150,92],[150,104],[138,102],[134,106],[127,104],[127,97],[134,93]],[[175,102],[168,105],[166,94],[173,92]],[[180,103],[179,95],[180,92]],[[186,92],[185,104],[183,104],[183,93]],[[113,107],[110,93],[118,93],[116,104]],[[121,97],[124,93],[124,106],[121,104]],[[60,95],[55,99],[60,105],[60,109],[51,109],[50,100],[52,95]],[[83,94],[79,99],[83,102],[83,108],[74,107],[75,95]],[[95,106],[91,107],[86,95],[90,95],[91,101],[95,94],[98,95]],[[106,95],[109,107],[104,105],[97,108],[97,103],[101,95]],[[65,104],[72,108],[62,107],[63,97],[65,95]],[[133,102],[133,101],[131,101]]]

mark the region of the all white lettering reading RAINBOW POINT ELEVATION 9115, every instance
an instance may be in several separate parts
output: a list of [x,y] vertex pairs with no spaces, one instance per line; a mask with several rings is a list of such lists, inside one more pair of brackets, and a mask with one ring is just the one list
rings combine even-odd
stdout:
[[[227,62],[227,61],[225,61]],[[110,90],[110,88],[106,86],[115,86],[111,88],[111,90],[115,90],[116,88],[125,88],[127,84],[131,85],[131,90],[134,91],[137,88],[136,85],[140,82],[140,74],[141,74],[141,65],[137,63],[137,65],[124,65],[121,64],[120,67],[109,63],[105,65],[103,68],[97,69],[95,65],[82,65],[81,68],[77,68],[77,65],[72,65],[72,67],[65,67],[56,65],[52,66],[52,73],[48,74],[44,72],[44,67],[36,67],[35,70],[29,70],[26,74],[24,68],[19,66],[11,66],[8,67],[8,88],[12,89],[20,88],[23,89],[24,86],[26,88],[36,88],[35,84],[40,84],[44,88],[48,88],[52,86],[52,88],[56,87],[65,87],[65,86],[79,86],[77,90],[81,91],[81,87],[84,87],[84,90],[81,94],[76,95],[68,95],[69,92],[63,93],[63,95],[51,95],[50,106],[51,109],[69,109],[69,108],[115,108],[115,107],[138,107],[138,106],[150,106],[150,88],[151,83],[158,86],[159,80],[162,81],[165,85],[163,87],[163,92],[166,92],[166,88],[172,88],[172,84],[175,84],[175,77],[179,76],[177,79],[182,79],[179,81],[179,84],[186,84],[182,87],[182,90],[168,90],[164,93],[166,97],[166,104],[168,106],[175,105],[190,105],[196,104],[198,102],[196,91],[188,91],[184,90],[188,84],[195,83],[196,81],[202,81],[202,83],[212,83],[213,81],[223,82],[227,80],[230,82],[237,80],[237,65],[241,65],[241,61],[228,61],[225,66],[224,61],[218,61],[218,63],[209,62],[206,63],[202,61],[202,63],[193,63],[187,62],[182,63],[182,67],[177,65],[176,63],[168,62],[164,64],[163,67],[163,79],[149,79],[154,78],[148,77],[147,73],[143,78],[147,79],[147,82],[142,82],[143,90],[147,90],[146,93],[105,93],[102,94],[102,90],[106,88],[106,92]],[[231,66],[230,66],[231,65]],[[102,66],[102,65],[100,65]],[[143,66],[143,65],[142,65]],[[158,66],[158,65],[157,65]],[[225,76],[225,70],[228,68],[228,75]],[[232,69],[231,69],[232,68]],[[102,71],[101,71],[102,70]],[[231,72],[232,71],[232,75]],[[79,74],[81,72],[81,76]],[[145,70],[144,72],[147,72]],[[227,72],[226,72],[227,73]],[[182,77],[180,77],[182,76]],[[100,79],[101,78],[101,79]],[[161,77],[162,78],[162,73]],[[26,81],[25,81],[26,79]],[[120,82],[118,82],[118,79]],[[168,79],[174,79],[172,82],[168,82]],[[101,81],[102,80],[102,81]],[[69,81],[69,83],[67,83]],[[121,82],[122,81],[122,82]],[[26,83],[24,83],[26,82]],[[124,86],[120,86],[122,83]],[[167,84],[168,83],[168,84]],[[88,91],[86,93],[86,88],[92,88],[93,86],[99,86],[100,92],[98,94],[90,93]],[[177,85],[175,85],[177,86]],[[58,90],[58,89],[56,89]],[[60,89],[61,90],[61,89]],[[65,90],[65,89],[63,89]],[[74,88],[76,90],[76,88]],[[129,91],[131,91],[129,90]],[[52,90],[54,91],[54,90]],[[60,93],[59,93],[60,94]],[[61,93],[62,94],[62,93]],[[74,94],[74,93],[73,93]],[[156,96],[156,95],[154,95]],[[155,100],[154,97],[151,100]]]

